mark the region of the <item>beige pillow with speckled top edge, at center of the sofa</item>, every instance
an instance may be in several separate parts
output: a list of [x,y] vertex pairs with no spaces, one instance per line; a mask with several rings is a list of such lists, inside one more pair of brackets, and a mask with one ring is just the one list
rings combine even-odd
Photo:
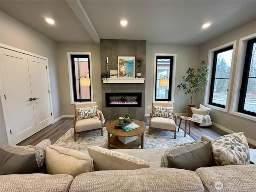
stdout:
[[102,147],[88,147],[88,152],[93,158],[96,171],[133,170],[149,167],[149,164],[142,159]]

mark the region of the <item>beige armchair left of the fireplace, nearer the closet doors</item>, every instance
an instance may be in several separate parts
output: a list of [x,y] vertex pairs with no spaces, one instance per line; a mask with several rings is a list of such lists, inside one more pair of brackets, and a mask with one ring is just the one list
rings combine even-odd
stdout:
[[[103,135],[102,128],[103,128],[105,119],[102,112],[98,109],[96,110],[96,106],[97,106],[96,102],[75,104],[75,114],[74,114],[74,140],[75,141],[76,141],[76,134],[80,134],[84,132],[101,130],[101,136]],[[86,109],[83,109],[83,108],[86,108]]]

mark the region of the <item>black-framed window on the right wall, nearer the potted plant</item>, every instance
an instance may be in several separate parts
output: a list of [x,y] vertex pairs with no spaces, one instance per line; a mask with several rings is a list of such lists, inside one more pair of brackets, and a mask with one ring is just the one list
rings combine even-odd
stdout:
[[214,52],[209,104],[225,108],[233,46]]

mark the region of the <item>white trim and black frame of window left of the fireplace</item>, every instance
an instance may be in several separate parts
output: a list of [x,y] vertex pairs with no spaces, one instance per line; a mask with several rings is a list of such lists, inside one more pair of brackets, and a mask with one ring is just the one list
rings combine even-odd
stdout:
[[[67,52],[68,57],[68,74],[69,74],[69,86],[70,86],[70,104],[79,103],[80,100],[76,101],[74,96],[74,89],[73,89],[73,82],[74,82],[74,74],[72,70],[72,55],[80,56],[80,55],[88,55],[89,58],[89,76],[92,77],[92,54],[91,52]],[[81,102],[93,102],[93,89],[92,89],[92,78],[90,78],[91,86],[90,86],[90,101],[83,101]]]

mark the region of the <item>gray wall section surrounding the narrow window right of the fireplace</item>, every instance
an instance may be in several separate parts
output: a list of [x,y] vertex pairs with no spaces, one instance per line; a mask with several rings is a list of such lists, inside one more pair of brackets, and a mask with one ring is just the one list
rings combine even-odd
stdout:
[[[179,45],[147,45],[146,52],[146,97],[145,106],[151,106],[154,92],[154,54],[155,53],[173,53],[177,54],[175,92],[174,92],[174,112],[177,114],[186,114],[187,105],[190,103],[188,95],[179,91],[177,85],[180,78],[186,75],[188,67],[198,66],[199,50],[198,46],[179,46]],[[204,94],[203,92],[199,94]],[[145,115],[149,115],[151,109],[145,108]]]

